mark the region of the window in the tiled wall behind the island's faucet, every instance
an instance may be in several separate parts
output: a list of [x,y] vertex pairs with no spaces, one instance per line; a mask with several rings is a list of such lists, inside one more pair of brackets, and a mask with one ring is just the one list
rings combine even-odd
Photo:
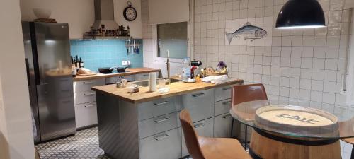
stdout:
[[183,59],[188,52],[188,23],[167,23],[157,25],[157,57],[169,56]]

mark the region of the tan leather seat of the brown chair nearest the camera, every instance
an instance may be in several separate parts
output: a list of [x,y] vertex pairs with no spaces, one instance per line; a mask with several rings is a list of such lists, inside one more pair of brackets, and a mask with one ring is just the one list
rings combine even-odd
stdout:
[[236,139],[198,136],[198,141],[205,159],[251,159]]

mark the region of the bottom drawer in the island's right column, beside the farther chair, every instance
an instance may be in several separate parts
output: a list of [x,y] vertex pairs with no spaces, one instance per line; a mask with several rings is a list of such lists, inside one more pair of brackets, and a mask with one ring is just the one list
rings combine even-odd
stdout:
[[214,117],[214,137],[229,138],[231,135],[232,116],[229,113]]

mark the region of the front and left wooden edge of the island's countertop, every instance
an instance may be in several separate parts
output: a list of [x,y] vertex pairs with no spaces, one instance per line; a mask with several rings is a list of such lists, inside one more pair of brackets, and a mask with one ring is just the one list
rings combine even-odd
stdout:
[[235,81],[226,82],[226,83],[222,83],[222,84],[216,84],[216,85],[212,85],[212,86],[205,86],[205,87],[202,87],[202,88],[195,88],[193,90],[183,90],[183,91],[178,92],[178,93],[166,93],[166,94],[156,95],[156,96],[151,97],[151,98],[144,98],[144,99],[140,99],[140,100],[132,100],[130,98],[125,98],[125,97],[122,97],[120,95],[116,95],[114,93],[109,93],[109,92],[106,92],[104,90],[97,89],[95,87],[92,87],[91,90],[98,91],[98,92],[101,92],[101,93],[105,93],[105,94],[108,94],[108,95],[113,95],[113,96],[115,96],[115,98],[119,98],[121,100],[125,100],[127,102],[131,102],[132,104],[139,104],[139,103],[142,103],[142,102],[149,102],[149,101],[157,100],[157,99],[160,99],[160,98],[169,98],[169,97],[176,96],[176,95],[184,95],[184,94],[188,94],[188,93],[193,93],[193,92],[198,91],[198,90],[209,90],[209,89],[212,89],[212,88],[228,86],[228,85],[235,85],[235,84],[242,84],[242,83],[244,83],[244,80],[238,79],[238,80],[235,80]]

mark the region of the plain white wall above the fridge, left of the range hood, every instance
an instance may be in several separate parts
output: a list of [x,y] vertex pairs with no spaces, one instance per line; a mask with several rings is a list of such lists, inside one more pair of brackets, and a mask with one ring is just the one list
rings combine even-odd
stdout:
[[34,20],[33,8],[49,8],[58,23],[69,23],[70,39],[80,39],[95,17],[93,0],[21,0],[22,20]]

